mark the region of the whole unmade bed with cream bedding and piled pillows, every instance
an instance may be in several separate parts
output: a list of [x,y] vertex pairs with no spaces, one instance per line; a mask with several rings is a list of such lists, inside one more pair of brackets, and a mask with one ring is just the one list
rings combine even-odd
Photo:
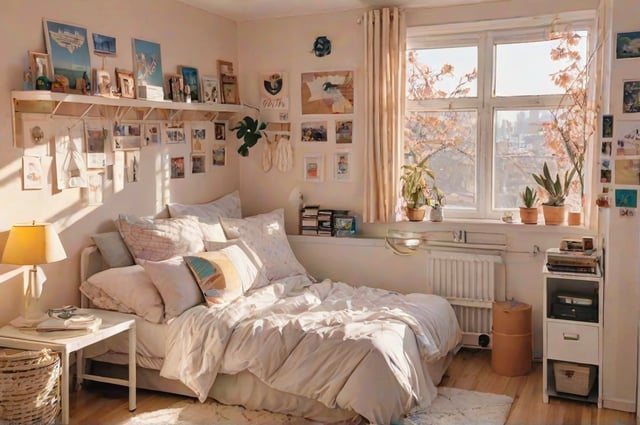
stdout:
[[[461,340],[444,298],[315,281],[283,211],[240,218],[237,193],[169,212],[120,216],[82,253],[83,305],[136,319],[139,387],[320,422],[388,424],[435,399]],[[117,374],[127,344],[84,355]]]

